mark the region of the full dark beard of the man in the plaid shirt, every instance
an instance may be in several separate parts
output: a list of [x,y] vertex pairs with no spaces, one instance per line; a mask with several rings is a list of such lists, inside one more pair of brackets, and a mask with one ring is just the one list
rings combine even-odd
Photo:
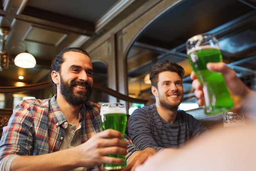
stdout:
[[[88,102],[90,95],[92,93],[92,87],[90,84],[88,84],[87,82],[83,82],[83,81],[71,81],[70,85],[65,82],[62,77],[61,78],[61,94],[63,95],[63,97],[65,98],[65,100],[67,100],[67,102],[69,104],[72,104],[73,106],[79,106],[80,104],[85,104],[86,102]],[[74,93],[74,85],[75,84],[79,84],[79,85],[83,85],[86,86],[87,91],[86,92],[77,92],[79,95],[76,95]]]

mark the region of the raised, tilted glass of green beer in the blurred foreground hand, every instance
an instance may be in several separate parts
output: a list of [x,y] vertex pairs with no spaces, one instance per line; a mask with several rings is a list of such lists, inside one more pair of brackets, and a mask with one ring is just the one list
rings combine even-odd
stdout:
[[234,107],[227,85],[221,73],[206,68],[208,62],[221,62],[218,41],[213,34],[204,33],[186,41],[189,63],[204,92],[204,113],[224,113]]

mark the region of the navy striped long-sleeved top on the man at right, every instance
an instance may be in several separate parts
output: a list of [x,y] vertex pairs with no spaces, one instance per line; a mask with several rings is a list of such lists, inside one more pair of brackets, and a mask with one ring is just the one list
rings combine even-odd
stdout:
[[177,123],[170,124],[158,114],[155,104],[136,109],[129,117],[128,133],[140,149],[180,148],[207,128],[185,111],[177,111]]

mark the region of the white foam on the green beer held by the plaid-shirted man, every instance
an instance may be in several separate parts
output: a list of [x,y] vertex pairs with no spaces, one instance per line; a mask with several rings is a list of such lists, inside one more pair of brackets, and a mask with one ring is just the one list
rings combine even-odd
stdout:
[[122,103],[104,103],[101,106],[101,115],[108,113],[124,113],[126,114],[126,109]]

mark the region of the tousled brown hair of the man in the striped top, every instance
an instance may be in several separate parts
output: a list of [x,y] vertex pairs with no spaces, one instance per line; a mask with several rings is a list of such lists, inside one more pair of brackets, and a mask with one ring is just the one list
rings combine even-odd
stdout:
[[149,79],[151,81],[151,86],[157,88],[158,75],[159,73],[164,71],[176,72],[180,76],[180,78],[184,76],[184,69],[180,65],[165,60],[162,63],[155,64],[150,70]]

